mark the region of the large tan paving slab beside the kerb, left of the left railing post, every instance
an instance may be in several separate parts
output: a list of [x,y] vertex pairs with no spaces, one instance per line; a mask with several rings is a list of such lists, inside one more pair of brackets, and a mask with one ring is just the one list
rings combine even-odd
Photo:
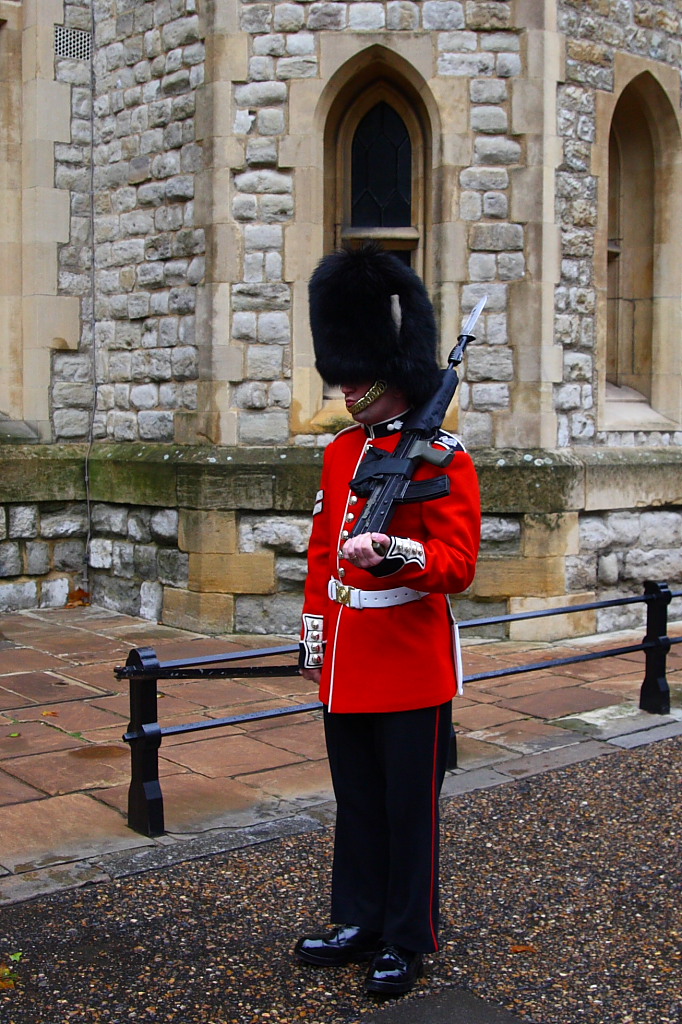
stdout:
[[36,801],[2,812],[0,864],[14,872],[93,857],[105,850],[130,850],[150,840],[132,833],[117,812],[83,794]]

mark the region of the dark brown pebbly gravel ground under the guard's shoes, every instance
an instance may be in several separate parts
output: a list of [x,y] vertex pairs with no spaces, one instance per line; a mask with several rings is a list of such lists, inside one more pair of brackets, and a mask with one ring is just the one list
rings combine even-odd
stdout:
[[[457,987],[535,1024],[680,1024],[681,777],[676,739],[446,802],[414,1020]],[[0,1020],[361,1022],[361,967],[291,954],[327,921],[331,849],[321,829],[4,908]]]

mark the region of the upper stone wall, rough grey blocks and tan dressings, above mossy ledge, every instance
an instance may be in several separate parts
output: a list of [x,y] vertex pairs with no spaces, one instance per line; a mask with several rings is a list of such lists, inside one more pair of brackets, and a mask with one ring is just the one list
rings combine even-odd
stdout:
[[595,172],[619,58],[682,66],[677,6],[63,0],[94,56],[54,65],[72,96],[58,291],[82,312],[79,350],[53,356],[54,436],[325,443],[302,288],[326,203],[321,140],[302,139],[324,125],[305,118],[335,52],[385,44],[440,119],[427,263],[443,333],[488,297],[460,391],[467,443],[682,443],[604,428]]

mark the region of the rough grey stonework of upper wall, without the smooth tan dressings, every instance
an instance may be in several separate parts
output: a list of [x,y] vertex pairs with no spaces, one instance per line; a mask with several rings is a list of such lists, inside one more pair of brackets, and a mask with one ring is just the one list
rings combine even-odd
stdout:
[[[210,224],[200,222],[198,212],[211,142],[198,130],[198,118],[212,8],[198,0],[65,0],[63,9],[66,26],[89,31],[94,25],[94,104],[89,66],[55,58],[56,80],[72,90],[72,140],[55,146],[55,184],[69,190],[72,204],[58,290],[80,298],[82,335],[77,352],[53,356],[53,432],[69,441],[90,430],[98,439],[171,441],[179,420],[198,408],[200,376],[210,375],[201,366],[196,316],[202,287],[212,280],[210,266],[206,273]],[[292,282],[284,257],[300,184],[281,151],[289,141],[292,85],[321,74],[321,34],[352,33],[358,46],[370,35],[428,35],[436,77],[469,82],[472,159],[457,182],[459,218],[467,227],[461,300],[471,307],[484,292],[488,303],[460,400],[467,443],[492,444],[496,416],[512,401],[513,289],[532,256],[524,225],[511,216],[511,177],[524,166],[526,144],[512,123],[513,86],[527,74],[515,5],[240,0],[236,9],[248,41],[246,74],[240,71],[231,83],[229,213],[225,201],[236,227],[233,251],[224,254],[233,267],[225,332],[242,364],[231,369],[225,395],[237,440],[254,446],[326,440],[292,436]],[[561,273],[554,339],[563,347],[563,367],[554,384],[555,443],[679,446],[680,431],[597,427],[597,180],[591,173],[595,90],[613,89],[617,52],[682,70],[678,5],[559,0],[557,17],[566,52],[556,96],[562,159],[555,176]]]

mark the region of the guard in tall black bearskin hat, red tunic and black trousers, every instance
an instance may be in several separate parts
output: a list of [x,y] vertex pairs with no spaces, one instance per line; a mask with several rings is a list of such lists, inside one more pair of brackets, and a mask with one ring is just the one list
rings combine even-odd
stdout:
[[[435,319],[417,274],[374,245],[323,259],[309,300],[317,370],[355,423],[325,455],[301,633],[337,801],[334,927],[295,953],[317,967],[368,962],[368,992],[399,995],[438,948],[438,796],[462,678],[447,595],[473,580],[478,482],[441,430],[449,493],[401,505],[389,534],[351,536],[367,498],[350,481],[376,450],[395,451],[406,417],[439,386]],[[415,480],[442,472],[420,463]]]

